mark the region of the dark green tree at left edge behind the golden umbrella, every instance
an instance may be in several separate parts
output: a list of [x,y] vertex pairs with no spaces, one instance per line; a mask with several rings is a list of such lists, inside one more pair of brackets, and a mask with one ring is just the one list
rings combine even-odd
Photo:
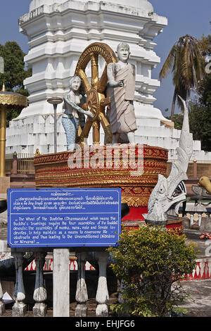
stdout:
[[[32,75],[31,69],[25,69],[24,56],[17,42],[0,44],[0,56],[4,58],[4,74],[0,74],[0,87],[3,82],[8,92],[16,92],[28,96],[28,91],[23,85],[25,78]],[[6,113],[6,125],[11,119],[17,117],[20,111],[8,109]]]

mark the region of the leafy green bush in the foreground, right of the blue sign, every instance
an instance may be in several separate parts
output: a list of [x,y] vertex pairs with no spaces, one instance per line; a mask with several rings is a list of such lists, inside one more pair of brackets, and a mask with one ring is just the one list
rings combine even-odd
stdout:
[[124,230],[115,247],[113,272],[124,283],[122,304],[111,308],[132,316],[167,316],[188,296],[182,287],[184,275],[196,266],[195,244],[186,244],[185,235],[163,227]]

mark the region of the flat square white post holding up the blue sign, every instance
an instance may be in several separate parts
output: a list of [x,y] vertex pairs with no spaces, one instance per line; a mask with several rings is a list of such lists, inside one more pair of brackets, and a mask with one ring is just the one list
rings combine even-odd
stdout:
[[69,249],[53,249],[53,317],[70,316]]

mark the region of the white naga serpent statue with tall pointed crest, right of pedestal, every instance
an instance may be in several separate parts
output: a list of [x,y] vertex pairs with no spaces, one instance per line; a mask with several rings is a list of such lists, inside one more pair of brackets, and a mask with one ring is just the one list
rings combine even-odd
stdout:
[[148,200],[148,213],[143,215],[146,223],[151,225],[166,225],[168,215],[179,216],[179,205],[186,201],[183,181],[188,178],[186,171],[193,152],[193,137],[189,130],[188,107],[183,99],[181,101],[184,105],[184,120],[177,147],[177,161],[172,163],[169,177],[158,175],[158,182]]

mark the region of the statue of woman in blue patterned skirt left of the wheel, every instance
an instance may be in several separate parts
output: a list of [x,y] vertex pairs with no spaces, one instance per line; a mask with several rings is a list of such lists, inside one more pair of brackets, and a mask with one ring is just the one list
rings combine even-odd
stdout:
[[[81,79],[74,76],[70,79],[70,92],[64,97],[63,109],[65,109],[62,117],[62,124],[67,137],[67,150],[75,149],[75,140],[77,138],[77,130],[79,127],[79,113],[80,120],[84,120],[83,115],[94,117],[91,111],[84,111],[80,108],[80,104],[84,104],[84,96],[80,94]],[[79,112],[79,113],[78,113]]]

